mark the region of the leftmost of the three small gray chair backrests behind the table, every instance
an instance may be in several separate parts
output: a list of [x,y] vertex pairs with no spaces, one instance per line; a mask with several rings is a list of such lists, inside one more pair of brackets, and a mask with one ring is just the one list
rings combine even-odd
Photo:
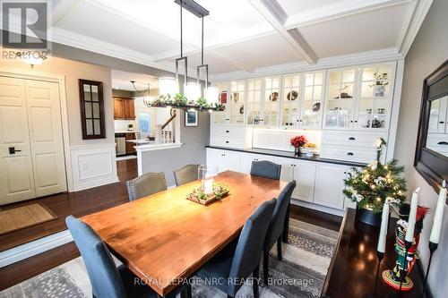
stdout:
[[167,181],[163,173],[145,173],[126,182],[126,185],[129,200],[137,200],[167,190]]

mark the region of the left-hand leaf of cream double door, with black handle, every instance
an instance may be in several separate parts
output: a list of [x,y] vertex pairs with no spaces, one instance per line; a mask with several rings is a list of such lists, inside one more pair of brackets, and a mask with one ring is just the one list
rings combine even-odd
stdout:
[[35,196],[25,81],[0,77],[0,205]]

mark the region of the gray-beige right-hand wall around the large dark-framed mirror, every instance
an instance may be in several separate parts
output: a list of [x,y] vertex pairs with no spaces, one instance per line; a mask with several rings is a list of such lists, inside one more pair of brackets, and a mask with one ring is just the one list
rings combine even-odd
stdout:
[[[418,175],[413,165],[423,80],[448,58],[447,20],[448,1],[435,0],[406,57],[399,129],[394,154],[394,157],[406,166],[405,175],[409,193],[420,186],[419,204],[431,208],[433,214],[437,194]],[[425,268],[429,257],[427,243],[433,223],[433,214],[426,216],[420,238],[419,251]],[[448,293],[448,283],[446,283],[448,255],[446,251],[448,251],[448,207],[445,206],[444,230],[439,248],[435,251],[429,275],[429,285],[435,297],[444,297]]]

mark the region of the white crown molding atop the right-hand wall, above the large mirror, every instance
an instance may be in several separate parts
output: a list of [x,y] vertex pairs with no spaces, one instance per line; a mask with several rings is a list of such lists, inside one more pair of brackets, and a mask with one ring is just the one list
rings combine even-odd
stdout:
[[431,4],[433,4],[433,0],[416,0],[413,10],[409,13],[407,26],[405,26],[405,30],[401,33],[401,38],[397,45],[401,55],[408,55],[409,48],[417,37],[418,30],[420,30],[421,24],[425,21]]

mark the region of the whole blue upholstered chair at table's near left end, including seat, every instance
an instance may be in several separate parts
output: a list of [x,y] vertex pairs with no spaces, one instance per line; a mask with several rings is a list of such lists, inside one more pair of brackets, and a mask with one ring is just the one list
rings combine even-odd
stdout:
[[[74,243],[81,252],[93,297],[158,297],[149,285],[135,284],[134,278],[138,277],[134,276],[125,265],[116,266],[108,247],[90,226],[73,216],[66,217],[65,223],[72,233]],[[186,287],[182,290],[185,289]],[[179,289],[169,294],[169,297],[176,297],[177,293],[179,293]],[[185,297],[185,291],[182,296]]]

